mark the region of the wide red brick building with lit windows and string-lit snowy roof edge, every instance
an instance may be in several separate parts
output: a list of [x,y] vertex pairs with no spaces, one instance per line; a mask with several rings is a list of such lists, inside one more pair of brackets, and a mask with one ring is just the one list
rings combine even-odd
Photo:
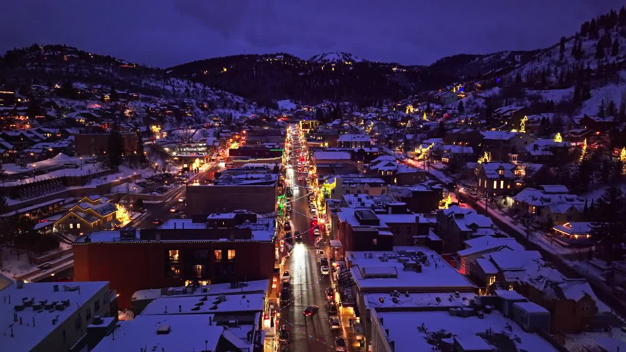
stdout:
[[124,309],[140,289],[271,279],[274,241],[275,219],[248,212],[93,232],[74,242],[74,279],[110,281]]

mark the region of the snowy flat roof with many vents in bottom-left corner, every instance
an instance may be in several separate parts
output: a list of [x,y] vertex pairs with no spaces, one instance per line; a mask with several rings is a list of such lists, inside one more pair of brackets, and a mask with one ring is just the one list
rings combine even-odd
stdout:
[[[59,290],[54,291],[54,285],[58,285]],[[64,289],[64,286],[71,287],[71,291]],[[18,289],[13,283],[0,291],[0,294],[8,300],[0,305],[0,344],[3,351],[30,351],[35,348],[54,329],[59,328],[61,323],[76,313],[86,301],[93,298],[99,291],[108,287],[108,282],[32,282],[24,283],[24,287]],[[108,299],[108,290],[106,290]],[[24,307],[21,311],[16,311],[15,306],[21,305],[23,298],[33,299],[33,305],[39,305],[41,301],[47,303],[61,303],[69,300],[69,305],[62,309],[42,309],[35,311],[33,306]],[[13,314],[17,314],[18,323],[13,321]],[[59,324],[53,325],[52,319],[57,318]],[[19,323],[19,320],[23,324]],[[35,322],[33,326],[33,321]],[[13,326],[13,337],[11,328]]]

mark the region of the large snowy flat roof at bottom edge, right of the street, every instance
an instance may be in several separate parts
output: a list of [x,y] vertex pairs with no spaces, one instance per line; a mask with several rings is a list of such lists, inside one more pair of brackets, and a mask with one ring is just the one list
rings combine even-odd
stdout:
[[[459,343],[477,343],[476,334],[484,334],[487,329],[492,329],[493,334],[506,334],[510,336],[515,349],[505,348],[500,351],[557,351],[552,344],[541,338],[538,334],[526,333],[517,323],[505,318],[500,311],[492,311],[485,314],[484,319],[478,316],[462,318],[451,316],[447,311],[411,311],[411,312],[378,312],[378,318],[383,319],[383,328],[389,329],[389,340],[394,341],[396,351],[431,351],[433,345],[428,343],[427,338],[436,331],[451,333]],[[505,330],[505,325],[513,326],[513,333]],[[419,331],[418,326],[424,324],[426,333]],[[515,342],[513,335],[521,338],[521,342]],[[482,338],[481,338],[482,339]],[[484,340],[485,343],[489,341]],[[495,345],[492,345],[495,347]]]

